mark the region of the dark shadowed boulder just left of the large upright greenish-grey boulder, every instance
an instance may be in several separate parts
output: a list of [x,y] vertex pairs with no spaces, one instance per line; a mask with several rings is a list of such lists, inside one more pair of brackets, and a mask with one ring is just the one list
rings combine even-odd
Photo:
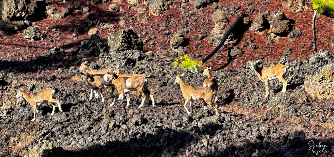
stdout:
[[108,42],[106,39],[101,39],[98,35],[93,34],[90,39],[81,42],[76,56],[79,58],[96,57],[100,53],[108,53]]

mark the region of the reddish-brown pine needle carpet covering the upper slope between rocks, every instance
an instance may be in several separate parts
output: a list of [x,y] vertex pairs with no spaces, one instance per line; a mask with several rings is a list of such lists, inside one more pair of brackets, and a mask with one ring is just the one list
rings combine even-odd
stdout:
[[[58,9],[62,9],[67,7],[69,4],[73,4],[74,1],[69,2],[54,2],[54,5]],[[54,46],[58,46],[64,50],[76,49],[80,46],[81,41],[85,39],[89,39],[88,30],[94,27],[98,27],[100,32],[98,35],[101,38],[107,39],[108,33],[113,33],[113,30],[108,30],[101,28],[99,25],[94,24],[91,27],[88,26],[87,21],[93,21],[99,19],[100,22],[108,22],[116,26],[116,30],[132,28],[137,33],[142,33],[146,31],[144,34],[144,38],[146,36],[151,36],[151,40],[155,42],[154,47],[149,46],[149,42],[144,44],[144,52],[147,51],[158,51],[158,50],[167,50],[169,46],[169,40],[166,38],[166,35],[163,35],[163,31],[160,31],[159,28],[161,24],[165,24],[168,27],[168,30],[171,32],[170,35],[178,32],[179,29],[182,29],[182,22],[185,20],[190,21],[191,17],[188,18],[186,15],[182,14],[182,8],[180,7],[181,1],[177,0],[170,7],[170,9],[163,15],[155,16],[152,15],[149,9],[144,14],[140,14],[141,17],[147,16],[148,21],[143,22],[141,19],[135,19],[134,24],[130,24],[129,20],[137,14],[136,8],[131,8],[130,11],[127,11],[127,8],[130,6],[127,2],[118,3],[118,2],[108,2],[107,4],[101,4],[98,7],[93,5],[87,5],[87,1],[81,1],[83,6],[89,6],[92,8],[92,11],[89,15],[82,15],[79,11],[73,12],[73,14],[67,16],[64,19],[44,19],[36,22],[36,26],[39,29],[45,30],[46,27],[50,27],[47,32],[47,37],[44,40],[40,41],[28,41],[23,38],[21,32],[17,34],[13,34],[9,36],[9,39],[1,38],[0,39],[0,59],[1,60],[19,60],[21,59],[27,61],[29,59],[34,59],[42,54],[47,54],[51,48]],[[259,9],[270,10],[270,12],[274,12],[276,9],[282,9],[281,1],[269,1],[269,7],[263,6],[262,0],[253,0],[253,4],[256,6],[256,11],[254,14],[251,14],[248,17],[254,19],[259,15]],[[32,1],[32,4],[34,1]],[[119,7],[122,7],[123,11],[117,13],[111,13],[108,9],[109,4],[115,3]],[[228,0],[222,0],[220,3],[216,3],[218,6],[241,6],[242,10],[248,11],[247,1],[235,1],[230,2]],[[31,4],[30,4],[31,5]],[[146,4],[140,3],[139,6],[145,7]],[[193,8],[193,4],[191,2],[187,3],[190,10],[192,10],[193,15],[197,16],[198,20],[195,21],[195,24],[188,26],[190,28],[190,32],[185,35],[185,38],[189,38],[189,45],[185,47],[189,54],[200,54],[198,60],[202,60],[207,54],[209,54],[216,45],[212,45],[209,43],[208,39],[210,37],[211,30],[214,26],[214,23],[211,21],[211,6],[207,6],[202,9]],[[283,50],[287,47],[292,47],[292,54],[289,56],[291,60],[295,59],[307,59],[310,54],[313,53],[312,49],[308,50],[308,45],[312,42],[312,15],[313,12],[311,10],[302,11],[302,12],[290,12],[285,11],[284,13],[288,19],[292,19],[295,21],[293,24],[294,27],[299,27],[302,31],[302,35],[297,37],[296,40],[290,44],[289,46],[285,46],[289,37],[285,37],[283,41],[278,43],[273,43],[271,45],[266,45],[266,37],[265,34],[269,30],[265,30],[262,33],[254,33],[251,30],[246,31],[245,33],[249,33],[252,35],[250,39],[255,40],[255,44],[259,47],[255,50],[248,50],[247,47],[240,46],[240,43],[245,42],[248,38],[243,36],[241,42],[238,47],[244,51],[244,54],[233,60],[228,66],[230,68],[240,68],[242,67],[247,60],[259,59],[262,58],[264,61],[269,61],[271,59],[279,60],[283,54]],[[123,17],[126,20],[126,26],[121,26],[118,21]],[[236,18],[236,14],[232,17],[228,17],[229,22],[227,23],[226,29],[234,22]],[[204,25],[204,23],[209,20],[210,23]],[[169,25],[171,21],[174,21],[177,26]],[[318,50],[320,49],[332,49],[331,46],[331,36],[333,36],[332,29],[332,19],[321,15],[319,19],[316,20],[316,29],[317,29],[317,44]],[[150,26],[152,26],[150,28]],[[199,26],[203,26],[202,28]],[[57,28],[56,33],[60,33],[60,35],[56,38],[52,33],[52,29]],[[73,37],[74,29],[78,29],[79,33],[77,36]],[[208,37],[204,40],[198,39],[198,35],[200,32],[206,31],[208,33]],[[244,34],[245,34],[244,33]],[[155,36],[155,38],[153,37]],[[53,42],[49,42],[50,39],[53,39]],[[143,38],[142,38],[143,39]],[[328,43],[328,44],[327,44]],[[164,45],[166,44],[166,45]],[[202,48],[196,48],[198,44],[203,45]],[[326,45],[327,44],[327,45]],[[34,56],[33,56],[34,55]],[[166,54],[168,55],[168,54]],[[212,66],[214,69],[221,67],[226,64],[227,60],[227,47],[226,45],[221,47],[221,49],[216,53],[211,59],[209,59],[205,65]]]

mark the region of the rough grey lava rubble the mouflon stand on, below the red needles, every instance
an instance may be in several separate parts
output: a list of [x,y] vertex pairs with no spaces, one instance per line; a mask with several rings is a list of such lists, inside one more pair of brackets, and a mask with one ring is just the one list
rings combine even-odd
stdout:
[[[54,51],[59,52],[61,49],[55,48]],[[317,124],[323,123],[325,127],[328,123],[333,123],[333,101],[314,99],[303,88],[307,76],[318,72],[313,71],[314,66],[322,67],[333,61],[333,56],[328,51],[321,50],[312,55],[310,60],[289,61],[282,57],[280,62],[289,66],[286,75],[287,93],[279,92],[282,88],[280,81],[271,81],[268,99],[263,97],[263,82],[259,81],[249,67],[215,71],[213,75],[218,79],[219,85],[224,87],[218,92],[220,116],[214,115],[210,107],[203,110],[201,103],[194,101],[193,115],[190,117],[186,116],[183,109],[184,99],[180,87],[174,84],[175,75],[179,72],[173,69],[173,60],[161,61],[158,57],[146,56],[138,50],[126,50],[115,53],[116,55],[119,58],[100,57],[92,66],[109,68],[118,65],[122,73],[144,74],[149,80],[149,89],[154,95],[156,107],[149,104],[138,108],[140,98],[136,92],[130,96],[129,107],[125,107],[125,100],[118,100],[115,106],[110,107],[109,94],[106,94],[108,92],[104,92],[107,99],[104,103],[101,103],[100,99],[89,102],[89,88],[74,75],[71,79],[61,80],[62,83],[73,80],[75,83],[69,82],[70,87],[59,86],[59,81],[47,81],[43,84],[36,81],[24,85],[29,93],[37,92],[45,86],[55,88],[55,98],[61,101],[64,111],[61,113],[56,108],[55,114],[51,116],[50,105],[38,106],[38,123],[32,123],[31,106],[22,98],[13,98],[21,87],[18,82],[21,78],[0,73],[0,83],[6,91],[4,101],[0,104],[0,120],[3,122],[0,123],[3,128],[0,130],[3,135],[0,139],[3,145],[0,148],[2,155],[52,157],[254,154],[252,156],[302,157],[310,153],[304,144],[310,141],[309,136],[316,133],[309,131],[310,128],[307,127],[319,130],[321,128]],[[137,58],[135,62],[127,61],[131,57]],[[262,67],[274,63],[260,61],[259,64]],[[333,74],[333,65],[328,66],[331,67],[329,73]],[[58,72],[76,73],[76,68],[72,66]],[[186,72],[184,79],[187,84],[198,85],[205,77],[201,73]],[[233,106],[234,109],[231,109]],[[227,108],[233,113],[222,112]],[[250,112],[254,110],[264,111],[259,115]],[[243,114],[239,114],[240,111],[243,111]],[[298,119],[299,122],[295,121],[298,124],[293,123],[295,119]],[[291,125],[282,125],[286,124],[286,121]],[[17,131],[20,131],[20,134],[17,134]],[[320,134],[317,137],[312,140],[317,143],[321,141],[322,144],[333,142],[332,139],[323,139]],[[226,143],[230,143],[230,146],[226,146]],[[15,146],[22,148],[13,149]],[[326,147],[325,150],[330,151],[331,148]],[[332,156],[333,152],[325,155]]]

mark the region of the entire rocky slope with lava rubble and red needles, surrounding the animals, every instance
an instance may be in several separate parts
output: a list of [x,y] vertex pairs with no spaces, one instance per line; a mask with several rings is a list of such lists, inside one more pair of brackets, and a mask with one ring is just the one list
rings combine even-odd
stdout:
[[[333,156],[334,57],[328,50],[311,54],[298,48],[311,43],[307,23],[300,18],[311,16],[308,1],[123,1],[18,1],[21,5],[13,7],[24,7],[15,12],[3,9],[10,7],[2,3],[7,4],[0,8],[5,10],[2,20],[6,22],[2,23],[8,30],[2,30],[7,36],[0,44],[1,156],[304,157],[314,155],[308,150],[312,140],[328,145],[328,152],[317,156]],[[47,19],[29,19],[35,17],[35,7],[45,8],[41,17]],[[278,10],[267,12],[271,7]],[[285,10],[279,10],[282,7]],[[244,18],[242,34],[234,32],[226,43],[232,59],[227,60],[223,51],[205,64],[218,69],[213,75],[219,82],[220,116],[213,108],[203,110],[199,101],[193,105],[193,115],[187,116],[175,76],[184,72],[190,85],[201,85],[205,77],[174,68],[174,58],[185,53],[203,58],[219,42],[212,36],[221,36],[239,10],[250,15]],[[210,21],[201,27],[207,12]],[[99,19],[101,15],[105,17]],[[60,25],[75,17],[72,25]],[[168,17],[166,24],[159,23],[164,17]],[[23,21],[22,27],[18,20]],[[154,20],[156,25],[150,23]],[[319,20],[329,19],[321,16]],[[132,29],[124,29],[127,26]],[[328,37],[331,33],[319,34]],[[329,49],[329,40],[320,39],[319,47]],[[289,41],[291,48],[286,48],[282,43]],[[278,52],[268,52],[270,46]],[[205,53],[192,51],[195,48]],[[271,81],[270,95],[264,98],[264,83],[245,64],[255,58],[260,58],[260,66],[289,66],[286,93],[280,92],[281,82]],[[150,102],[138,108],[140,97],[133,92],[129,107],[125,99],[110,107],[110,89],[104,90],[104,103],[89,101],[89,89],[77,74],[85,60],[96,69],[117,66],[122,73],[144,74],[156,106]],[[56,109],[51,116],[51,105],[44,104],[38,107],[41,112],[36,121],[30,122],[32,107],[23,98],[15,99],[20,87],[30,93],[54,88],[63,112]]]

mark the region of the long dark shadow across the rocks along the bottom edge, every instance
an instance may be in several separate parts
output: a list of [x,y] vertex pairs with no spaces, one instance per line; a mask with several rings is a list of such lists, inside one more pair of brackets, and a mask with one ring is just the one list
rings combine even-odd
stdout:
[[[282,136],[275,141],[267,140],[268,137],[258,136],[257,142],[251,142],[249,139],[240,139],[240,144],[227,144],[226,147],[217,147],[214,143],[208,143],[208,133],[215,132],[219,129],[216,124],[203,126],[202,128],[211,127],[210,130],[200,130],[195,126],[191,129],[173,130],[157,129],[155,134],[142,133],[138,138],[132,138],[128,141],[108,141],[105,145],[96,144],[89,148],[80,150],[65,150],[62,147],[56,147],[43,150],[42,157],[48,156],[296,156],[310,157],[316,155],[316,151],[324,148],[323,155],[333,155],[331,139],[306,139],[304,132],[294,132],[293,134]],[[205,131],[209,131],[208,133]],[[210,134],[210,133],[209,133]],[[220,135],[220,134],[219,134]],[[217,136],[216,143],[224,143],[224,136]],[[219,142],[222,140],[221,142]],[[326,145],[321,148],[310,147],[321,142]],[[309,150],[310,149],[310,150]],[[314,152],[312,153],[313,150]],[[326,152],[325,152],[326,151]],[[207,153],[211,152],[211,153]],[[312,154],[311,154],[312,153]],[[321,152],[319,153],[321,154]]]

